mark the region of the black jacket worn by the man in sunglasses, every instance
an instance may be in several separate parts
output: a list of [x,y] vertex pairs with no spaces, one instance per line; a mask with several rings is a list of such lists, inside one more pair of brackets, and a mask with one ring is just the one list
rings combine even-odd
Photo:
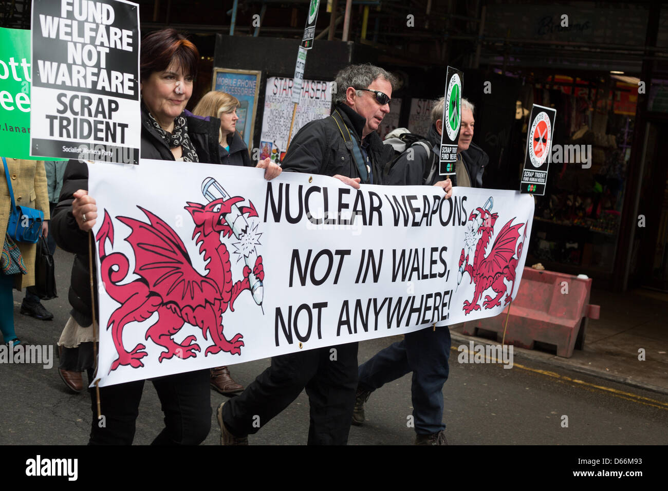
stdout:
[[[341,119],[360,144],[366,120],[345,104],[335,104],[335,109],[339,110]],[[373,184],[383,184],[381,175],[383,165],[391,158],[392,150],[383,145],[376,132],[367,135],[367,142],[369,142],[367,152],[373,164]],[[329,117],[311,121],[297,132],[281,166],[283,170],[290,172],[361,177],[351,152],[343,142],[339,127]]]

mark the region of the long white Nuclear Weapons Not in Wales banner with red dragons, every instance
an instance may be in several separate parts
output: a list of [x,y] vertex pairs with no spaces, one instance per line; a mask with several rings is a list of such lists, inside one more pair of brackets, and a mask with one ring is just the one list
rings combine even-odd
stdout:
[[506,190],[444,200],[236,166],[89,169],[103,386],[497,315],[534,211]]

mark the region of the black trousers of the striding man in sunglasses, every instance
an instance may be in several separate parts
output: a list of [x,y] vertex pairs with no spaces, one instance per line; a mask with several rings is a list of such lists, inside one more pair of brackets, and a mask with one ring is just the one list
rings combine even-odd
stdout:
[[273,357],[243,393],[225,403],[222,420],[235,436],[255,434],[304,388],[311,406],[308,444],[347,444],[357,389],[357,343]]

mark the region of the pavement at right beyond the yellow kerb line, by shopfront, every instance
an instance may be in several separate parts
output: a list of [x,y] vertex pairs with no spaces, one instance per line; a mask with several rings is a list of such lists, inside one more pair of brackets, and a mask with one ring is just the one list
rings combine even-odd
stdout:
[[[645,289],[626,293],[593,289],[589,303],[601,305],[601,316],[589,319],[584,349],[562,358],[539,349],[514,347],[514,357],[668,394],[668,294]],[[462,325],[451,329],[453,346],[468,345],[471,340],[490,343],[489,339],[464,335],[462,330]],[[641,348],[644,360],[640,359]]]

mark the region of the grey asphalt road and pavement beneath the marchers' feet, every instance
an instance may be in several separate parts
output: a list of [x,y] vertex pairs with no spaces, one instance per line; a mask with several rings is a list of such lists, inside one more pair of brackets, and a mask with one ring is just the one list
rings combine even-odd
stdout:
[[[14,293],[17,334],[26,344],[55,345],[67,321],[67,287],[72,255],[56,251],[57,299],[44,302],[53,321],[37,321],[19,313],[23,294]],[[538,349],[514,349],[514,367],[498,363],[456,363],[457,347],[470,339],[451,329],[450,378],[444,420],[450,444],[665,445],[668,410],[668,330],[663,311],[668,296],[648,291],[615,294],[592,292],[601,318],[591,320],[583,350],[570,359]],[[400,337],[360,343],[359,362]],[[496,344],[494,341],[493,344]],[[638,349],[645,349],[645,361]],[[55,353],[54,353],[55,354]],[[57,375],[41,365],[0,365],[0,412],[4,444],[86,444],[90,428],[90,396],[65,389]],[[234,379],[248,385],[269,359],[230,367]],[[607,381],[604,381],[607,380]],[[629,386],[635,387],[629,389]],[[369,399],[368,422],[351,429],[349,444],[411,444],[413,428],[411,374],[388,383]],[[226,397],[212,391],[212,430],[204,444],[218,444],[215,409]],[[562,420],[568,416],[570,430]],[[146,384],[135,443],[150,444],[164,415],[150,383]],[[298,445],[306,442],[309,401],[305,392],[253,436],[253,444]]]

